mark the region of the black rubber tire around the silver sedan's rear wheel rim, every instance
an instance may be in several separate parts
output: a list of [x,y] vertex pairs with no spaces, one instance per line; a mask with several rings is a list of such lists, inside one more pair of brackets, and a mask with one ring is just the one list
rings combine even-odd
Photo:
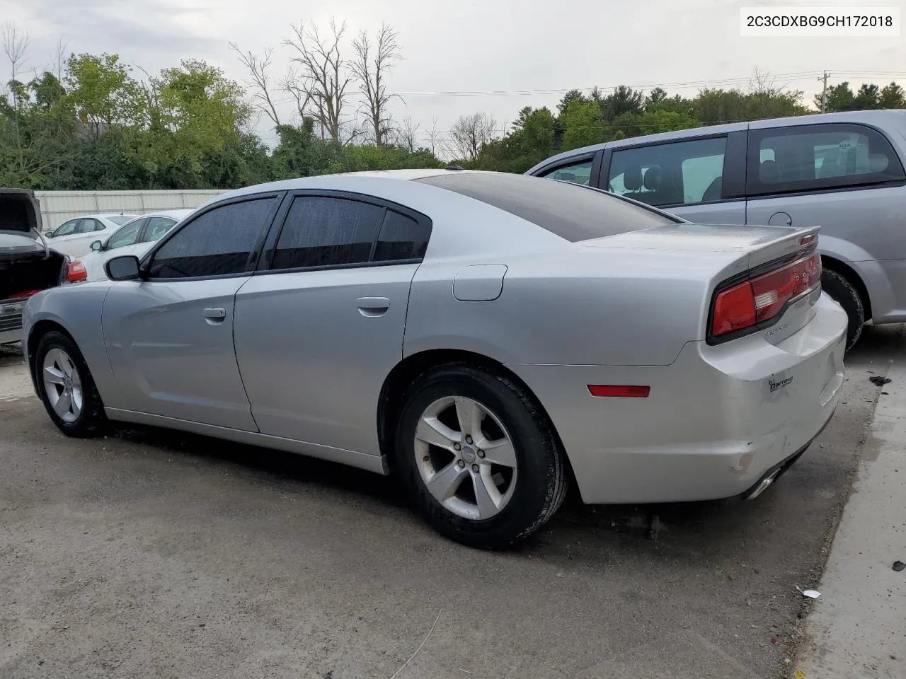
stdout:
[[[416,427],[426,409],[446,397],[467,397],[487,407],[506,429],[515,451],[512,494],[489,519],[469,519],[448,510],[429,492],[419,472]],[[563,503],[569,483],[563,451],[534,399],[512,379],[465,362],[449,363],[421,375],[402,403],[395,466],[419,514],[440,534],[469,547],[503,550],[541,528]],[[474,493],[474,485],[467,485]]]

